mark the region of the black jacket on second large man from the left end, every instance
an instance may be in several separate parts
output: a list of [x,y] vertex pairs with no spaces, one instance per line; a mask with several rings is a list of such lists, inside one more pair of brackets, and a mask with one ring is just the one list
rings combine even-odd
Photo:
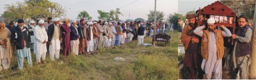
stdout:
[[24,41],[22,42],[22,38],[24,38],[24,41],[26,41],[26,45],[27,45],[26,47],[29,48],[31,38],[29,36],[28,28],[24,27],[23,29],[20,29],[19,26],[13,28],[11,39],[13,44],[16,45],[16,49],[24,48]]

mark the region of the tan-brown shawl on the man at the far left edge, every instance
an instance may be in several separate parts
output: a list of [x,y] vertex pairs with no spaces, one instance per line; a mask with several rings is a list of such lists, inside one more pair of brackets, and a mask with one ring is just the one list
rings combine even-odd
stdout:
[[[4,24],[4,22],[3,22],[3,24]],[[6,54],[7,54],[7,58],[8,58],[8,63],[10,63],[10,61],[12,60],[12,51],[13,51],[12,45],[10,43],[11,35],[12,35],[11,31],[9,31],[8,28],[5,28],[5,25],[4,25],[4,29],[0,29],[0,40],[4,41],[3,47],[6,48],[6,51],[7,51]],[[1,53],[1,54],[5,54],[5,53]]]

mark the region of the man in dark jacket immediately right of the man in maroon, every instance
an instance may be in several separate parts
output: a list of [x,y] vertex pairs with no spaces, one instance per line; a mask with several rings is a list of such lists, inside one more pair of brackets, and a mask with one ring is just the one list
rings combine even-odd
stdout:
[[78,33],[76,20],[72,20],[70,30],[71,30],[71,33],[70,33],[71,52],[78,55],[80,35]]

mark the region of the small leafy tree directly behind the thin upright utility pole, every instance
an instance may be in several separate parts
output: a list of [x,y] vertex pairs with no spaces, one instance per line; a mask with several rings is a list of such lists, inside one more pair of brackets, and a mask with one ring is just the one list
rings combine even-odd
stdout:
[[[148,13],[148,21],[154,22],[154,11],[150,10]],[[156,11],[156,21],[161,21],[164,19],[164,12]]]

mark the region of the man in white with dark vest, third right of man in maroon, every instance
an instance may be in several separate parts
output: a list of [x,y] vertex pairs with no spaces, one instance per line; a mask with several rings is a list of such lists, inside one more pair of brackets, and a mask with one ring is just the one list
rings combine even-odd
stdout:
[[92,32],[92,28],[93,28],[93,22],[88,22],[89,28],[86,29],[86,34],[87,34],[87,52],[89,52],[90,54],[92,54],[93,52],[93,32]]

